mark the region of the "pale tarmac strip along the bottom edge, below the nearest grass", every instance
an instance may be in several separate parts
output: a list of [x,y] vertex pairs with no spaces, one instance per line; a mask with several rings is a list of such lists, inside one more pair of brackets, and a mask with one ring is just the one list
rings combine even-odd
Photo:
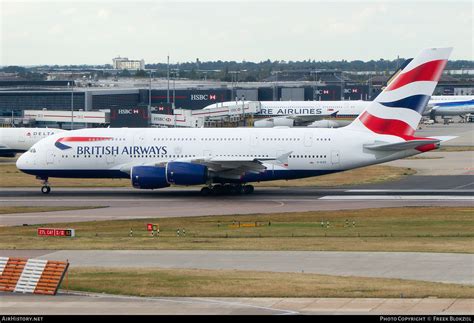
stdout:
[[57,296],[0,293],[0,297],[3,315],[466,315],[469,319],[474,313],[473,299],[454,298],[155,298],[65,291]]

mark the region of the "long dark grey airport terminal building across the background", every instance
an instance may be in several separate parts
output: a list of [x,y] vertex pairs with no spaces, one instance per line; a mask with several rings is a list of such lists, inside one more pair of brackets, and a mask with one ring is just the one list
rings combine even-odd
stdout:
[[[0,118],[3,124],[20,120],[25,111],[102,111],[104,117],[91,124],[76,126],[106,126],[110,116],[118,109],[152,107],[153,113],[173,114],[173,108],[199,110],[211,104],[233,101],[338,101],[371,100],[384,85],[383,80],[371,84],[344,82],[327,78],[318,82],[255,82],[234,83],[207,82],[204,85],[191,81],[122,84],[113,87],[78,86],[73,81],[0,81]],[[204,83],[204,82],[203,82]],[[71,86],[71,84],[73,86]],[[110,84],[109,84],[110,85]],[[148,86],[147,86],[148,85]],[[151,85],[151,86],[150,86]],[[471,94],[472,84],[440,82],[435,94]],[[30,113],[31,114],[31,113]],[[67,120],[71,114],[65,115]],[[13,119],[12,119],[13,118]],[[90,117],[96,118],[96,117]],[[63,122],[66,123],[67,121]],[[130,120],[130,127],[137,126]],[[141,123],[140,123],[141,124]],[[18,124],[28,125],[28,124]],[[31,126],[32,124],[30,124]],[[35,126],[59,126],[60,124],[37,123]],[[122,125],[123,126],[123,125]]]

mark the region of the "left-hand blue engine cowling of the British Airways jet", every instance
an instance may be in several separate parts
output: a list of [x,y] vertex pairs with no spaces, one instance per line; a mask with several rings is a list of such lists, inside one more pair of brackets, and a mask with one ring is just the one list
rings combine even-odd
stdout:
[[130,172],[132,185],[135,188],[154,189],[168,187],[166,168],[155,166],[135,166]]

